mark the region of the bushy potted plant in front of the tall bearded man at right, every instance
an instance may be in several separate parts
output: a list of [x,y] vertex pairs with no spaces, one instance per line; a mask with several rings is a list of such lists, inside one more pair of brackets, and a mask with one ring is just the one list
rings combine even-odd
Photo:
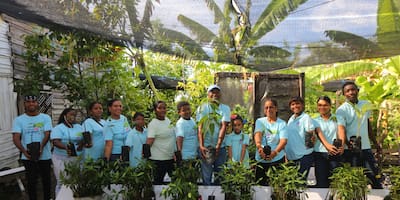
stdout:
[[344,163],[343,167],[333,170],[330,186],[330,197],[336,200],[366,200],[368,192],[368,178],[364,175],[364,168],[351,167]]

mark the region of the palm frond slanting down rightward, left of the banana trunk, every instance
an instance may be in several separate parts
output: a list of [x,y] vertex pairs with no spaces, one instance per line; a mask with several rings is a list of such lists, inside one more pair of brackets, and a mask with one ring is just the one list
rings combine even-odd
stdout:
[[186,28],[190,30],[190,32],[196,36],[197,41],[200,43],[210,43],[217,36],[207,29],[207,27],[199,24],[198,22],[184,16],[179,15],[178,21],[180,21]]

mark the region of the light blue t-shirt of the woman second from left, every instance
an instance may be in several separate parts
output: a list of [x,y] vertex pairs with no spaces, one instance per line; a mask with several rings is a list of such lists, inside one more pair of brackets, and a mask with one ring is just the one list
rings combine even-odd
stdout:
[[[82,141],[83,138],[82,132],[83,128],[80,124],[73,124],[73,127],[69,128],[65,124],[61,123],[53,128],[50,134],[50,138],[52,140],[60,139],[61,143],[65,146],[68,144],[68,142],[72,142],[75,145],[76,154],[79,156],[82,154],[82,151],[78,151],[77,149],[79,143]],[[60,149],[56,146],[54,146],[53,153],[60,156],[68,156],[67,150]]]

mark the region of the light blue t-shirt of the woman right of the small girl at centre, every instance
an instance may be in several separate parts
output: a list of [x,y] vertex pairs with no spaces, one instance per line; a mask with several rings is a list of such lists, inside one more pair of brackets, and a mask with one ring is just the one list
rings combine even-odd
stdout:
[[[254,133],[261,132],[262,133],[262,140],[261,145],[262,147],[269,145],[271,150],[276,149],[279,145],[280,139],[287,139],[288,135],[285,131],[286,122],[283,121],[281,118],[277,118],[276,122],[270,123],[268,122],[267,117],[261,117],[256,120],[256,126],[254,128]],[[264,160],[261,158],[258,151],[256,151],[256,160],[262,163],[271,163],[282,159],[285,156],[284,151],[280,151],[278,155],[276,155],[272,160]]]

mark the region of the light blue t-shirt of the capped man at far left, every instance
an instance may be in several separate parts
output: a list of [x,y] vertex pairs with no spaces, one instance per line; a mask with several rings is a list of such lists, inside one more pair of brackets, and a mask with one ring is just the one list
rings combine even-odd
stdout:
[[[22,114],[15,118],[12,132],[21,134],[21,144],[27,149],[27,144],[29,143],[42,143],[45,136],[44,132],[51,131],[51,128],[51,118],[47,114],[39,113],[36,116]],[[27,160],[24,154],[22,154],[21,159]],[[43,147],[39,160],[49,159],[51,159],[50,141]]]

